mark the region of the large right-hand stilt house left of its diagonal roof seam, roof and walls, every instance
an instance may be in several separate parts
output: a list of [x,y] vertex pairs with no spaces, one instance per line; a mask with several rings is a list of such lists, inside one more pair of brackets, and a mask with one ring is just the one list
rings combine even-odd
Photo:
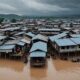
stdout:
[[55,41],[55,49],[58,52],[59,57],[70,57],[73,56],[76,52],[77,45],[71,41],[69,38],[58,39]]

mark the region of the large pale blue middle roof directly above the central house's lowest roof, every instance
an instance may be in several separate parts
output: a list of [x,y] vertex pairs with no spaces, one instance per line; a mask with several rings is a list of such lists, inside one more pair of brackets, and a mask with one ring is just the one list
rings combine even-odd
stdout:
[[30,52],[36,51],[36,50],[41,50],[44,52],[47,52],[47,44],[44,42],[36,42],[32,45],[32,48],[30,50]]

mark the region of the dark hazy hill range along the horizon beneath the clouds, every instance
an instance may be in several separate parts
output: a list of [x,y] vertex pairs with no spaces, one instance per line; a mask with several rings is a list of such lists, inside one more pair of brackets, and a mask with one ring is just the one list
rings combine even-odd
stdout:
[[27,15],[16,15],[16,14],[0,14],[1,18],[7,19],[24,19],[24,18],[80,18],[80,15],[58,15],[58,16],[27,16]]

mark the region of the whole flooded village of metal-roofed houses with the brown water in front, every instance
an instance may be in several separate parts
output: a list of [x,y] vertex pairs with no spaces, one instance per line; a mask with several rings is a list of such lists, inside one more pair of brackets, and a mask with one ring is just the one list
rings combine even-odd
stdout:
[[4,20],[0,80],[80,80],[80,19]]

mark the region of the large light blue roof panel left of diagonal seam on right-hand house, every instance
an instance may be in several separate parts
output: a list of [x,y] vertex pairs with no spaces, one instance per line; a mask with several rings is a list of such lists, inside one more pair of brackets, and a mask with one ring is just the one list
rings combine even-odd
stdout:
[[67,39],[58,39],[55,40],[58,46],[71,46],[76,45],[73,41],[71,41],[69,38]]

